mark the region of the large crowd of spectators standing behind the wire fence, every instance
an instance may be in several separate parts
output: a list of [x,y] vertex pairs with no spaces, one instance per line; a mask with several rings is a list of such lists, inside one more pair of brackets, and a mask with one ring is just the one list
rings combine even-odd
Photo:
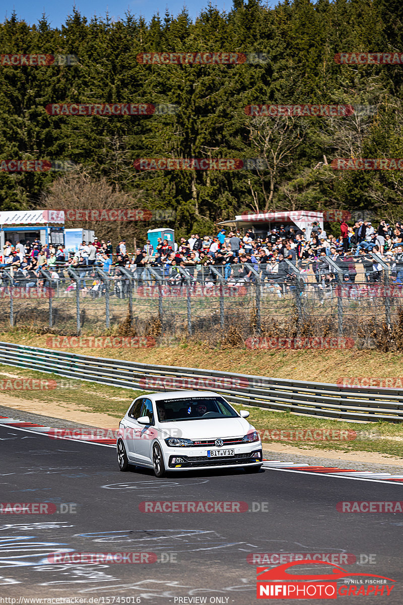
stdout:
[[[403,284],[403,223],[393,226],[381,220],[374,226],[371,221],[359,220],[349,226],[343,221],[340,231],[340,237],[335,237],[312,223],[308,237],[306,229],[280,224],[263,238],[251,229],[245,234],[221,229],[211,237],[181,237],[175,244],[159,239],[155,249],[147,240],[132,254],[124,240],[114,249],[111,241],[96,237],[92,242],[83,241],[75,253],[39,240],[17,241],[15,245],[6,241],[0,274],[3,283],[11,279],[13,285],[25,290],[63,284],[69,293],[78,284],[83,295],[92,296],[105,293],[103,277],[116,284],[127,281],[126,270],[137,285],[152,283],[159,276],[172,284],[224,280],[228,286],[238,287],[259,277],[266,291],[279,298],[286,289],[297,287],[298,275],[307,284],[310,270],[317,288],[323,291],[334,289],[338,280],[353,284],[359,265],[367,283],[381,281],[382,271],[388,267],[391,279]],[[71,278],[68,268],[78,280]]]

